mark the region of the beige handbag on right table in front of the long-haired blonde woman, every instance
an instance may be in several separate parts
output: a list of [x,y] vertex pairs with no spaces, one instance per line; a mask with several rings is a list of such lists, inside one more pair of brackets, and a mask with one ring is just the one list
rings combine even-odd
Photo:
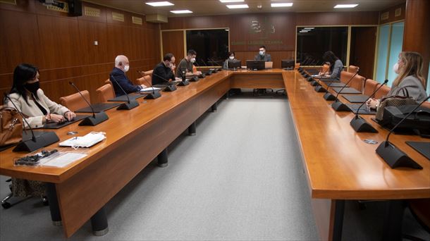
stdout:
[[[407,86],[402,87],[395,92],[394,95],[385,97],[381,99],[381,104],[379,104],[378,109],[376,110],[376,121],[379,122],[380,125],[386,124],[386,121],[383,119],[384,109],[388,106],[406,106],[417,104],[412,97],[409,96],[409,92],[407,92]],[[399,96],[400,90],[403,92],[403,96]]]

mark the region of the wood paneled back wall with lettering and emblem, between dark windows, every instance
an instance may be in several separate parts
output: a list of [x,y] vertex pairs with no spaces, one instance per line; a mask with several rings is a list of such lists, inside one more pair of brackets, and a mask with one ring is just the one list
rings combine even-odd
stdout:
[[[256,22],[257,21],[257,22]],[[230,28],[230,49],[245,64],[258,54],[260,45],[265,45],[271,54],[274,68],[281,68],[281,60],[295,57],[296,25],[377,25],[379,12],[338,12],[338,13],[261,13],[227,16],[202,16],[168,18],[161,24],[161,30],[183,30],[202,28]],[[261,30],[256,32],[252,24]],[[163,50],[177,49],[177,42],[165,42]],[[199,53],[197,53],[198,55]],[[180,56],[181,58],[182,56]],[[177,57],[178,58],[178,57]]]

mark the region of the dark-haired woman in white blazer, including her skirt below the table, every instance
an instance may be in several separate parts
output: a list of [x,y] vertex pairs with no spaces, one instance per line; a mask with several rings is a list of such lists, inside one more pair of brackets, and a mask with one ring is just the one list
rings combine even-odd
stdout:
[[[44,123],[71,120],[75,113],[60,104],[56,104],[44,95],[39,88],[39,70],[30,64],[22,63],[13,71],[13,85],[9,97],[16,105],[18,111],[24,113],[25,120],[31,128],[42,128]],[[13,107],[11,101],[5,101],[6,105]],[[29,128],[24,121],[24,127]],[[13,196],[42,197],[45,195],[45,185],[39,181],[12,179]]]

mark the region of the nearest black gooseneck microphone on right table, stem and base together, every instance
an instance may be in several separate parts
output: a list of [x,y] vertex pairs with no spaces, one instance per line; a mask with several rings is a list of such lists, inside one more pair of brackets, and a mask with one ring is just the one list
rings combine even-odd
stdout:
[[416,163],[414,160],[412,160],[405,152],[402,152],[402,150],[398,149],[398,147],[395,147],[395,145],[388,141],[388,138],[390,137],[391,133],[395,128],[397,128],[403,121],[405,121],[414,111],[418,109],[419,106],[422,106],[426,100],[430,99],[430,95],[426,97],[421,103],[417,105],[410,113],[407,113],[405,117],[403,117],[402,120],[400,120],[397,125],[395,125],[390,132],[388,132],[388,135],[386,137],[386,140],[382,142],[378,148],[376,148],[376,154],[381,156],[383,161],[385,161],[388,166],[391,168],[397,168],[400,166],[410,167],[414,169],[422,169],[422,166],[420,166],[418,163]]

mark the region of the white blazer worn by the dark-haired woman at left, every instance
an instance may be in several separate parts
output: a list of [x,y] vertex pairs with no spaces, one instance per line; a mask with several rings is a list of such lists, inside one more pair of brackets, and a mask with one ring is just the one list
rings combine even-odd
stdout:
[[[18,93],[9,94],[9,97],[11,97],[11,100],[13,103],[18,107],[18,111],[23,112],[25,116],[28,116],[28,118],[25,118],[25,120],[28,122],[28,124],[31,126],[31,128],[42,128],[44,125],[43,122],[43,112],[37,107],[35,104],[35,100],[32,99],[32,97],[27,97],[27,102],[25,102],[23,96],[21,96]],[[37,100],[37,103],[39,103],[41,106],[44,107],[45,110],[47,110],[47,113],[56,113],[61,116],[64,115],[69,109],[62,106],[61,104],[56,104],[54,101],[51,101],[43,92],[42,89],[37,89],[37,97],[39,97],[39,100]],[[13,107],[13,104],[11,101],[6,102],[7,106]],[[27,123],[23,121],[24,128],[28,129]]]

